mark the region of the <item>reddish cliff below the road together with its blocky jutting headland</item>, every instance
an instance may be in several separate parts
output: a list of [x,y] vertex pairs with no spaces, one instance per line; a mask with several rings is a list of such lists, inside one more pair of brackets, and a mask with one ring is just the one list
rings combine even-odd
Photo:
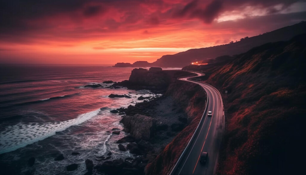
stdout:
[[[146,71],[134,69],[129,81],[123,82],[129,88],[136,89],[144,86],[150,88],[163,85],[160,87],[164,88],[165,96],[171,96],[176,102],[177,108],[187,114],[187,126],[146,166],[145,171],[148,175],[167,174],[171,171],[203,115],[207,101],[207,94],[204,89],[197,84],[177,80],[178,77],[190,75],[194,74],[176,70]],[[140,86],[136,86],[138,84]]]

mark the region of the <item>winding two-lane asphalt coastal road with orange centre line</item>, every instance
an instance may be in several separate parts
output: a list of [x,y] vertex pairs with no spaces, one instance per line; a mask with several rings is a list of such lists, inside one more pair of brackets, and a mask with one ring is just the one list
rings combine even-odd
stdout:
[[[171,175],[214,175],[218,163],[218,154],[224,131],[224,109],[219,91],[211,85],[193,80],[204,74],[197,73],[195,77],[179,78],[202,86],[207,92],[208,106],[202,116],[199,127],[192,137],[186,150],[181,155]],[[212,116],[207,112],[212,111]],[[205,164],[199,161],[201,152],[207,152]]]

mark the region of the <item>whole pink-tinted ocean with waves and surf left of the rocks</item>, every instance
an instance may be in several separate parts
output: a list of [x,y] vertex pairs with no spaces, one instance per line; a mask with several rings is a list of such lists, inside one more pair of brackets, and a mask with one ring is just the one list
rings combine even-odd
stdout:
[[[126,134],[113,109],[135,105],[148,90],[106,88],[103,81],[129,79],[132,67],[5,66],[0,67],[0,167],[11,174],[84,174],[85,160],[112,152],[111,159],[133,157],[115,142]],[[103,87],[85,88],[99,83]],[[130,94],[132,98],[109,98]],[[133,102],[133,103],[132,103]],[[126,144],[125,144],[126,145]],[[72,155],[78,152],[79,155]],[[64,160],[54,161],[58,154]],[[34,157],[33,166],[28,159]],[[68,172],[66,166],[78,169]],[[94,172],[95,173],[95,172]]]

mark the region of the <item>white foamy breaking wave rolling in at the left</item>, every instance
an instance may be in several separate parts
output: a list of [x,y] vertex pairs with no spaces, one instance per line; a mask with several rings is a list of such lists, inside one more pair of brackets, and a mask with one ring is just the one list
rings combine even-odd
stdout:
[[81,114],[75,119],[63,122],[48,122],[43,124],[18,123],[13,126],[7,126],[4,131],[0,133],[0,154],[17,150],[18,148],[55,135],[56,132],[64,131],[73,125],[81,124],[96,116],[100,111],[101,109],[97,109]]

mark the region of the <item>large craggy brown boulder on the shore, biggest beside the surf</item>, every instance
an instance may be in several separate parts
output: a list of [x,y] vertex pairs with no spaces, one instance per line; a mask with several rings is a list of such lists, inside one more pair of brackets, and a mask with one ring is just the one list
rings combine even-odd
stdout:
[[125,132],[130,132],[136,140],[150,140],[154,135],[156,121],[152,117],[135,114],[123,116],[120,122],[124,125]]

